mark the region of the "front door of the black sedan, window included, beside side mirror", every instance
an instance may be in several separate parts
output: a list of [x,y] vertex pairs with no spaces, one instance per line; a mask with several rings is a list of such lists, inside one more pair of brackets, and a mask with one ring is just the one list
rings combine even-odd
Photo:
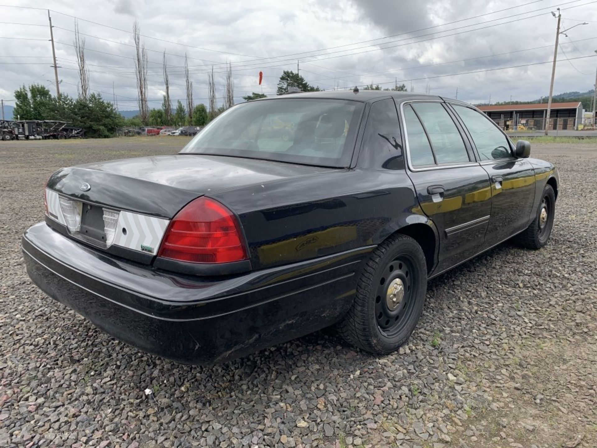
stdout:
[[491,247],[529,225],[535,200],[533,165],[528,159],[514,157],[512,143],[487,115],[464,105],[451,107],[491,179],[491,219],[485,236],[485,245]]

